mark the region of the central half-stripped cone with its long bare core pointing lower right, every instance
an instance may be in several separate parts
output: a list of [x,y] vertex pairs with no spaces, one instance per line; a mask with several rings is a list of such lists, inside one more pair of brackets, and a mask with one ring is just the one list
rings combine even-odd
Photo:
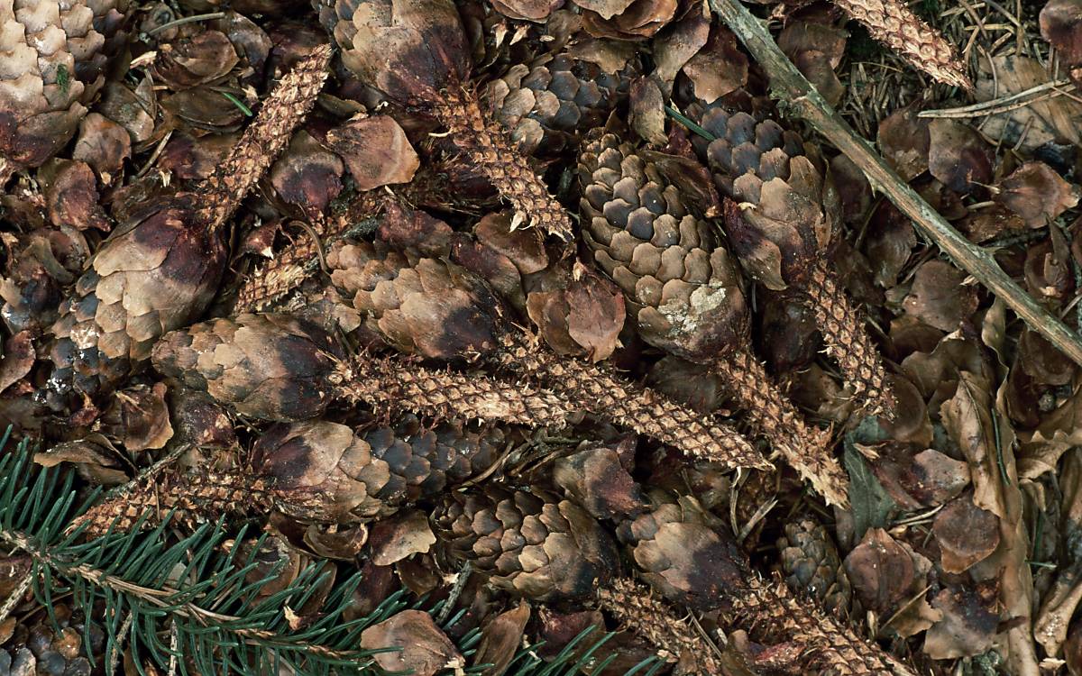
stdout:
[[767,463],[735,429],[617,376],[560,359],[507,326],[488,284],[436,259],[410,260],[368,243],[327,256],[331,280],[366,322],[401,352],[433,359],[480,357],[530,377],[569,405],[625,425],[696,458],[730,467]]

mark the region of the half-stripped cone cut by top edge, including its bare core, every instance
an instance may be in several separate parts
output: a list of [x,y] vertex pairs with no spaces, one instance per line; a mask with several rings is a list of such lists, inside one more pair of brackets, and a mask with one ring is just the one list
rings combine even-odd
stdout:
[[522,222],[564,240],[571,238],[571,221],[564,208],[465,84],[470,52],[453,2],[314,2],[349,70],[390,97],[428,108],[465,157],[511,202]]

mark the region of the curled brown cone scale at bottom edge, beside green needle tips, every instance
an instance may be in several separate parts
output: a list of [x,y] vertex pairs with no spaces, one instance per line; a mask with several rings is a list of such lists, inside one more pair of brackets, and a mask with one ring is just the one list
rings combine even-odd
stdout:
[[368,627],[360,635],[360,647],[366,650],[400,648],[372,657],[388,672],[412,672],[413,676],[434,676],[444,668],[465,664],[451,639],[423,610],[403,610]]

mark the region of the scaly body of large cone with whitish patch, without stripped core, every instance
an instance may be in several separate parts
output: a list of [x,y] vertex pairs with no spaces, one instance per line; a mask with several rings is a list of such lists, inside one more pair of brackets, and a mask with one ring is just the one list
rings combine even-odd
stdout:
[[604,134],[580,156],[579,178],[582,237],[643,340],[697,362],[747,343],[748,306],[728,252],[652,158]]

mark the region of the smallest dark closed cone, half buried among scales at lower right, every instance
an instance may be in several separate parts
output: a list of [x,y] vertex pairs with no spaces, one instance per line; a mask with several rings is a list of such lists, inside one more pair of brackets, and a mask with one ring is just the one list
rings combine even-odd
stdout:
[[810,519],[786,523],[778,539],[786,583],[836,618],[848,617],[853,588],[827,528]]

